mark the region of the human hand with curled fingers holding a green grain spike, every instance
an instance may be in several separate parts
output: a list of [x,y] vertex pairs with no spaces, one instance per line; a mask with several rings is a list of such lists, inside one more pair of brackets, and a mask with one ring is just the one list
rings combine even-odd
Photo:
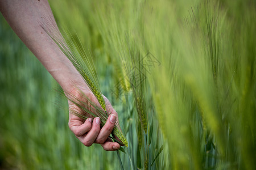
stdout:
[[[88,100],[84,99],[84,96],[81,95],[81,92],[83,95],[88,97],[92,103],[96,104],[98,107],[100,106],[100,103],[98,103],[97,98],[93,95],[92,91],[89,89],[79,89],[77,88],[70,91],[70,95],[73,97],[76,97],[78,100],[81,100],[85,105],[85,107],[88,107],[91,112],[95,112],[94,109],[91,109],[92,106],[88,102]],[[115,126],[115,122],[118,121],[118,114],[115,112],[114,108],[110,104],[109,100],[104,96],[104,100],[106,103],[106,111],[109,113],[108,120],[106,121],[105,125],[101,128],[101,120],[100,117],[93,117],[89,113],[84,113],[80,107],[78,107],[76,104],[74,104],[72,101],[68,101],[69,104],[69,129],[76,135],[76,137],[79,139],[80,142],[82,142],[85,146],[92,146],[93,143],[99,143],[104,150],[106,151],[115,151],[120,148],[119,143],[112,142],[112,139],[109,138],[109,135],[112,133],[112,130]],[[76,111],[77,113],[84,114],[87,118],[84,120],[83,118],[73,114],[72,112]],[[98,114],[98,113],[94,113]]]

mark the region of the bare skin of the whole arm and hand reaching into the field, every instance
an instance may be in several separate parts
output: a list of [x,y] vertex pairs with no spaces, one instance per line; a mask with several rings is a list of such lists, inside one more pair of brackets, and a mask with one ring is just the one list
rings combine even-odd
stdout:
[[[72,94],[81,99],[77,90],[78,87],[90,100],[98,103],[96,97],[94,97],[92,91],[69,59],[57,49],[55,42],[40,27],[39,22],[45,16],[55,20],[47,0],[0,0],[0,11],[16,35],[60,84],[65,94]],[[74,84],[76,84],[76,87]],[[72,114],[72,109],[80,110],[70,101],[68,125],[69,129],[85,146],[100,143],[104,150],[115,151],[120,148],[120,145],[117,142],[112,142],[109,135],[118,120],[118,114],[114,111],[108,99],[105,98],[105,101],[106,109],[111,114],[102,128],[100,128],[100,118],[98,117],[88,118],[84,121]],[[80,112],[82,113],[82,111]]]

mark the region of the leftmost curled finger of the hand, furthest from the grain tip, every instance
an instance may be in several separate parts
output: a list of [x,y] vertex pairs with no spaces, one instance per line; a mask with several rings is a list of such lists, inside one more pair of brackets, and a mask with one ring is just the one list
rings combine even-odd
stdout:
[[87,118],[84,124],[77,122],[77,125],[70,126],[71,131],[77,136],[81,137],[92,128],[92,118]]

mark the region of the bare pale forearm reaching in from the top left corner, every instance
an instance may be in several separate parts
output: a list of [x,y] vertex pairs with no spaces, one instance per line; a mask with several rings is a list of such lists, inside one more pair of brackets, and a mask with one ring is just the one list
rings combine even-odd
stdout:
[[0,0],[0,11],[14,32],[46,67],[65,92],[72,90],[73,83],[77,86],[86,86],[69,59],[40,27],[39,22],[44,17],[54,20],[48,1]]

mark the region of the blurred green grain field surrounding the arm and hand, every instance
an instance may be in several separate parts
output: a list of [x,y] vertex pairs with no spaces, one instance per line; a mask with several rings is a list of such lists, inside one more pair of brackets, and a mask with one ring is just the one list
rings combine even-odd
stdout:
[[256,169],[256,1],[49,3],[128,147],[76,139],[60,86],[0,15],[0,169]]

